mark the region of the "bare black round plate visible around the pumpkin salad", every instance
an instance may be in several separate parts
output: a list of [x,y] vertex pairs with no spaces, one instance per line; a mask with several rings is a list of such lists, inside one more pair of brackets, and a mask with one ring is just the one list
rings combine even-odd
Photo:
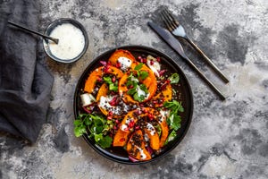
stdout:
[[89,146],[91,146],[93,149],[95,149],[99,154],[104,156],[105,158],[109,158],[113,161],[124,163],[124,164],[143,164],[147,162],[154,161],[157,158],[162,158],[165,156],[168,152],[170,152],[172,149],[174,149],[180,141],[185,136],[186,132],[188,131],[189,124],[191,123],[192,113],[193,113],[193,98],[192,98],[192,91],[189,86],[188,80],[185,76],[185,74],[181,71],[178,64],[172,60],[167,55],[164,55],[163,53],[150,48],[150,47],[141,47],[141,46],[127,46],[127,47],[118,47],[112,50],[109,50],[105,52],[103,55],[99,55],[96,57],[95,60],[91,64],[88,65],[85,72],[80,77],[80,80],[78,81],[75,94],[74,94],[74,115],[77,117],[81,111],[80,107],[80,92],[81,89],[84,88],[85,81],[88,78],[89,72],[93,71],[96,67],[100,66],[101,64],[99,61],[106,61],[108,58],[113,54],[113,52],[116,49],[126,49],[129,50],[132,55],[135,57],[138,57],[138,55],[153,55],[153,56],[159,56],[161,58],[161,64],[165,66],[170,72],[177,72],[180,75],[180,85],[179,85],[179,91],[180,91],[180,100],[182,101],[182,106],[184,107],[184,112],[180,114],[181,116],[181,128],[177,132],[178,136],[175,140],[169,142],[166,146],[163,147],[163,152],[161,152],[159,155],[155,155],[151,160],[148,161],[140,161],[140,162],[132,162],[128,158],[128,154],[126,150],[122,148],[111,148],[111,149],[102,149],[99,146],[95,144],[95,141],[92,141],[88,139],[87,135],[83,135],[84,139],[88,142]]

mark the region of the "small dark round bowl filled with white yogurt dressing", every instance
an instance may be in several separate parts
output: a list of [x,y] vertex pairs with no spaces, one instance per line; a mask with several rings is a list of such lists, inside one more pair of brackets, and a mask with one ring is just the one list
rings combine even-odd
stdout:
[[80,59],[88,49],[88,33],[79,21],[62,18],[50,23],[45,34],[58,38],[58,44],[44,39],[43,45],[50,58],[61,63],[72,63]]

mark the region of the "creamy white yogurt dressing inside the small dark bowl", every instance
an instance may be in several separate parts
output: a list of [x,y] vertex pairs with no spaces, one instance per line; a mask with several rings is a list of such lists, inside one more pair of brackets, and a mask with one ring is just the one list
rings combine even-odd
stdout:
[[85,38],[80,29],[71,23],[63,23],[54,28],[51,37],[58,38],[59,43],[49,42],[51,53],[62,60],[72,59],[80,55],[85,47]]

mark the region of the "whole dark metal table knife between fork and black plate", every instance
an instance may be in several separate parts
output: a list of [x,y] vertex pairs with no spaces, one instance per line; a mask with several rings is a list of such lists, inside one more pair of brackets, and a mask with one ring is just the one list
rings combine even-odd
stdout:
[[224,100],[225,97],[222,94],[221,90],[219,90],[214,83],[212,83],[211,81],[209,81],[205,74],[203,72],[201,72],[196,64],[194,64],[189,58],[188,56],[184,53],[184,50],[180,44],[180,42],[178,41],[177,38],[174,38],[172,36],[172,33],[168,30],[163,29],[162,27],[156,25],[154,22],[148,21],[148,26],[150,28],[152,28],[153,30],[155,30],[155,33],[158,34],[161,38],[163,38],[163,40],[170,46],[172,47],[172,49],[177,52],[192,68],[194,68],[194,70],[198,73],[198,75],[202,78],[203,81],[205,81],[207,83],[207,85],[214,90],[214,92],[222,99]]

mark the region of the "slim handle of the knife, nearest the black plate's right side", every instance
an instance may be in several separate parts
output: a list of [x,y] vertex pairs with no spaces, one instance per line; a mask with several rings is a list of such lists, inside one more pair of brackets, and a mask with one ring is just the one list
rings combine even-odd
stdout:
[[190,66],[192,66],[193,68],[194,68],[194,70],[198,73],[198,75],[202,78],[202,80],[204,80],[206,83],[207,83],[207,85],[212,89],[212,90],[214,90],[214,92],[222,99],[222,100],[225,100],[225,97],[224,97],[224,95],[222,94],[222,92],[221,92],[221,90],[219,90],[215,85],[214,85],[214,83],[212,83],[211,81],[209,81],[207,78],[206,78],[206,76],[205,76],[205,74],[203,73],[203,72],[201,72],[198,68],[197,68],[197,66],[196,66],[196,64],[194,64],[187,56],[182,56],[187,62],[188,62],[188,64],[190,65]]

